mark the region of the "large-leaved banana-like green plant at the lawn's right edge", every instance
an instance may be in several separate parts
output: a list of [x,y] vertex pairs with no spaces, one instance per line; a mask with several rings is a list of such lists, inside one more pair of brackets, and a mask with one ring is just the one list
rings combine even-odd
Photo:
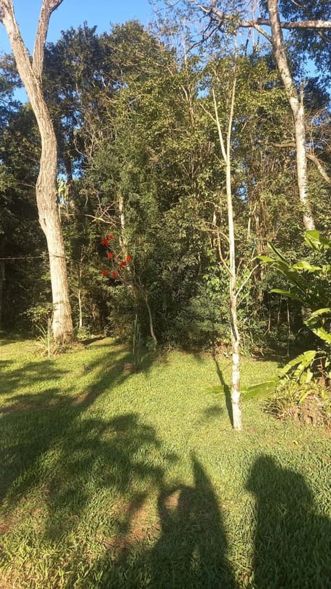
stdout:
[[[305,242],[316,255],[328,257],[331,240],[321,237],[319,231],[306,231]],[[272,255],[259,256],[261,262],[285,276],[290,283],[289,290],[272,289],[272,292],[301,303],[309,313],[304,320],[305,326],[321,340],[321,346],[304,351],[290,360],[278,376],[246,389],[246,399],[271,396],[285,378],[308,384],[314,376],[321,376],[322,373],[325,378],[331,379],[331,333],[328,330],[331,307],[328,307],[330,291],[327,287],[331,282],[331,264],[323,261],[322,264],[314,265],[306,260],[290,264],[276,247],[272,244],[268,244],[268,247]]]

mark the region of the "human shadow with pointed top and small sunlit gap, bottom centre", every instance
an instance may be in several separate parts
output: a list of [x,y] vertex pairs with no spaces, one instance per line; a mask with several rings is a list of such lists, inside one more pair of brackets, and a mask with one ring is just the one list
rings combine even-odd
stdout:
[[153,589],[232,589],[228,541],[208,474],[192,456],[194,485],[165,489],[159,496],[161,537],[152,549]]

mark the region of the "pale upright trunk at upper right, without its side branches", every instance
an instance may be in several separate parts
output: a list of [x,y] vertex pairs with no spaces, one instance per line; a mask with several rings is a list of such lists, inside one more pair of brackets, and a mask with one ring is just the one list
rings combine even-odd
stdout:
[[303,208],[303,225],[305,229],[314,229],[312,210],[308,200],[308,175],[307,175],[307,154],[305,149],[305,110],[303,107],[303,94],[299,96],[295,87],[288,59],[286,57],[283,31],[279,19],[278,0],[268,0],[268,11],[270,26],[272,30],[272,48],[274,59],[279,70],[279,75],[288,93],[288,99],[292,109],[294,121],[295,144],[297,148],[297,182],[299,199]]

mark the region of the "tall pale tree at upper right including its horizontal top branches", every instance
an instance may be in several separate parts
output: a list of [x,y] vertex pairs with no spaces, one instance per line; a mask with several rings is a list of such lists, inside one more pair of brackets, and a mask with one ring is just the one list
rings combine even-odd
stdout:
[[[269,18],[257,17],[252,19],[245,19],[242,16],[241,3],[232,1],[230,3],[230,10],[228,5],[224,10],[217,6],[217,1],[212,1],[210,6],[203,6],[196,0],[190,0],[190,3],[199,6],[200,10],[205,12],[210,17],[210,26],[208,26],[208,35],[211,35],[215,30],[224,30],[227,22],[232,22],[237,27],[254,28],[263,37],[272,44],[272,52],[277,64],[279,75],[283,82],[284,88],[288,95],[288,101],[293,115],[294,135],[297,153],[297,184],[299,190],[299,200],[303,209],[303,225],[305,229],[314,229],[314,220],[312,217],[312,209],[310,199],[308,197],[308,173],[307,173],[307,153],[306,153],[306,133],[305,133],[305,108],[303,104],[303,85],[297,89],[294,83],[288,56],[283,38],[283,29],[286,30],[315,30],[323,32],[331,29],[331,21],[321,19],[301,20],[285,22],[281,21],[279,16],[279,4],[285,4],[288,8],[288,2],[279,2],[279,0],[268,0],[261,2],[261,8],[266,8]],[[301,7],[301,2],[292,3],[298,8]],[[228,11],[227,11],[228,10]],[[289,10],[289,9],[288,9]],[[303,11],[305,12],[305,11]],[[271,28],[270,35],[265,27]],[[329,39],[327,39],[329,40]]]

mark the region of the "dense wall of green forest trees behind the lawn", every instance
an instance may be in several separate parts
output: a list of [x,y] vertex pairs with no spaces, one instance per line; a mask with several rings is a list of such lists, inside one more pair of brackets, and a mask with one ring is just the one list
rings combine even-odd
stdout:
[[[328,19],[327,2],[312,15],[300,6],[281,1],[281,19]],[[206,14],[191,2],[177,12],[163,7],[152,28],[130,21],[98,34],[84,23],[46,44],[43,95],[57,137],[57,214],[79,338],[130,339],[137,315],[148,347],[228,346],[227,166],[219,131],[226,135],[233,102],[228,164],[241,345],[290,349],[312,339],[301,302],[272,293],[288,289],[286,278],[259,257],[268,243],[289,264],[326,255],[308,247],[304,231],[330,232],[328,32],[297,28],[283,36],[293,92],[304,105],[303,202],[275,43],[263,34],[262,17],[239,35],[240,10],[232,3],[222,21],[216,8]],[[54,309],[35,199],[40,136],[30,103],[15,100],[20,85],[12,57],[3,56],[1,327],[38,334]]]

